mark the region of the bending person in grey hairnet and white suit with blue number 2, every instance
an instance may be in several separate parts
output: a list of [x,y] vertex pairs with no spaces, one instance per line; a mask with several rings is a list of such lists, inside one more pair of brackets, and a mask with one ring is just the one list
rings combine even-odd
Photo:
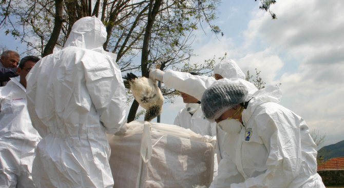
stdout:
[[204,116],[231,135],[218,176],[210,187],[324,187],[317,174],[316,144],[305,121],[277,102],[280,89],[250,96],[241,83],[205,90]]

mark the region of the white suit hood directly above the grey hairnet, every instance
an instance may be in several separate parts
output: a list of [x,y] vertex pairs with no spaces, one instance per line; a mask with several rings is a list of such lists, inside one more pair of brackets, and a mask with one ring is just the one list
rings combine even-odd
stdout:
[[214,74],[219,74],[223,78],[241,78],[245,79],[245,74],[242,72],[238,64],[232,59],[224,59],[214,66]]

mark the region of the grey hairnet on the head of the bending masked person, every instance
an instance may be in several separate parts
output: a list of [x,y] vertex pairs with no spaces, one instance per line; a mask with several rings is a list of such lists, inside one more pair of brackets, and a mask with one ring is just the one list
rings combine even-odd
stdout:
[[210,121],[239,103],[245,102],[247,88],[239,83],[218,83],[205,90],[201,99],[204,117]]

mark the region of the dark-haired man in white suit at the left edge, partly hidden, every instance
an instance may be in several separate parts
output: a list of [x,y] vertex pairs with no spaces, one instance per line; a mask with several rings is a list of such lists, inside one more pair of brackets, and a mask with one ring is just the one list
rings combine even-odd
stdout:
[[25,77],[39,60],[22,58],[17,68],[20,77],[0,87],[0,187],[35,187],[31,169],[40,135],[27,110]]

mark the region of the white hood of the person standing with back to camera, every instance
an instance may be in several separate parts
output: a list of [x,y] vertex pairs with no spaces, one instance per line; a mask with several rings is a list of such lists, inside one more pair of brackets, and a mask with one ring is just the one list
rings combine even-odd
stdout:
[[74,46],[101,52],[106,36],[106,28],[99,18],[83,17],[74,23],[65,47]]

